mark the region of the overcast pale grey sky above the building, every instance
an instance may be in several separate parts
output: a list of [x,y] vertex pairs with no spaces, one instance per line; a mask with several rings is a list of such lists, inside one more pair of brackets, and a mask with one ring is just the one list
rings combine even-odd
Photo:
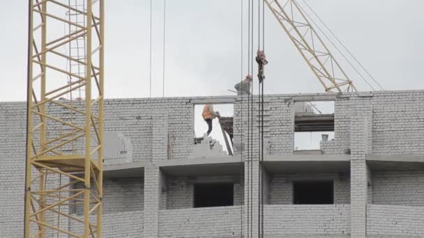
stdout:
[[[384,88],[424,88],[423,1],[306,1]],[[105,2],[105,94],[148,97],[150,1]],[[162,4],[153,1],[153,96],[162,96]],[[240,12],[239,0],[167,0],[165,96],[232,94],[241,77]],[[24,100],[27,1],[9,1],[0,20],[0,101]],[[266,93],[323,91],[268,9],[266,54]]]

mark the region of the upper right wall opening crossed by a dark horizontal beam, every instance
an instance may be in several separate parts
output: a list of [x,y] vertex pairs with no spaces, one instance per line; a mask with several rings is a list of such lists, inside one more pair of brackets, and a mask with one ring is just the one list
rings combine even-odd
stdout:
[[294,152],[320,150],[320,142],[334,138],[334,102],[295,102]]

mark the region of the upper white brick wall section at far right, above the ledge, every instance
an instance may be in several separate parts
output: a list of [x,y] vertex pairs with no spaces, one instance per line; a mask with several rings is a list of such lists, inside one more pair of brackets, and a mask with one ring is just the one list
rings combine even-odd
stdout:
[[373,153],[424,154],[424,94],[401,91],[374,95]]

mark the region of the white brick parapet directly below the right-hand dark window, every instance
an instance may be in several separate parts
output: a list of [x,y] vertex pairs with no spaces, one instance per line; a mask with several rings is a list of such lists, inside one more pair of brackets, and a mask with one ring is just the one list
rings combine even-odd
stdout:
[[[349,205],[265,205],[266,235],[347,235]],[[278,237],[278,236],[275,236]]]

